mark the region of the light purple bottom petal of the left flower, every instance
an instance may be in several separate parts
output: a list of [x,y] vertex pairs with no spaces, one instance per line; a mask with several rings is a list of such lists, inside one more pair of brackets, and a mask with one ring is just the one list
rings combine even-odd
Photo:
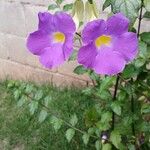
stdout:
[[44,49],[44,52],[40,55],[40,62],[46,68],[54,68],[59,66],[65,61],[61,44],[53,44],[50,47]]

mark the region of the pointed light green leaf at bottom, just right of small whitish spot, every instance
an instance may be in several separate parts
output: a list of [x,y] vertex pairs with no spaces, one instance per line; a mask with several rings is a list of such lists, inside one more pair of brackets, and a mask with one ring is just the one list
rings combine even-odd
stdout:
[[110,141],[112,144],[119,149],[119,145],[121,144],[121,135],[118,131],[112,131],[110,135]]

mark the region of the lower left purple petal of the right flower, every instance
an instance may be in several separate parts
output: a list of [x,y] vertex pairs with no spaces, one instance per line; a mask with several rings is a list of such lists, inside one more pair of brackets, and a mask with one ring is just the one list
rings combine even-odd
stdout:
[[96,47],[93,43],[90,43],[89,45],[80,48],[78,52],[78,62],[84,67],[92,68],[96,55]]

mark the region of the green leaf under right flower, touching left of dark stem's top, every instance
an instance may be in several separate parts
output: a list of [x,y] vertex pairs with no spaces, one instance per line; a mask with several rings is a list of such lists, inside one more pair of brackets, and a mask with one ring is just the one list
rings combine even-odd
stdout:
[[99,92],[101,93],[105,89],[109,89],[110,86],[113,84],[115,80],[115,77],[105,77],[103,78],[101,85],[100,85],[100,90]]

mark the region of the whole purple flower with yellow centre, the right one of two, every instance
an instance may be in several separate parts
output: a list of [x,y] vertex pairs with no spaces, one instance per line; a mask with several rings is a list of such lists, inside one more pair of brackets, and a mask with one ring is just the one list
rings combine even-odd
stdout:
[[107,21],[87,23],[82,32],[83,46],[78,62],[98,74],[115,75],[138,53],[137,35],[128,32],[129,19],[118,13]]

